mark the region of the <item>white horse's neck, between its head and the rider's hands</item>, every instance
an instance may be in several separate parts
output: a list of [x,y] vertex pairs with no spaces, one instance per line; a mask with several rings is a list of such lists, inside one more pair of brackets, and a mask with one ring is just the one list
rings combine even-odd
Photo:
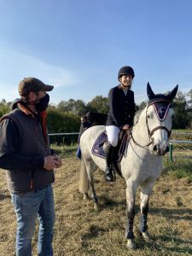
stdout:
[[137,124],[134,125],[132,129],[132,135],[134,139],[137,141],[137,143],[140,143],[142,145],[149,143],[149,137],[148,137],[148,126],[146,123],[146,108],[141,113]]

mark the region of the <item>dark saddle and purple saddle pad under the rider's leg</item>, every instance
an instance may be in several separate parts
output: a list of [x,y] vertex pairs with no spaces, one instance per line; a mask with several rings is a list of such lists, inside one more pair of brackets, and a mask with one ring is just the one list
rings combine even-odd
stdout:
[[[122,177],[121,171],[119,169],[119,162],[122,160],[123,156],[127,153],[127,147],[130,141],[130,133],[131,131],[122,130],[119,133],[119,142],[117,147],[115,147],[114,155],[113,155],[113,168]],[[108,135],[106,131],[102,131],[101,134],[96,138],[95,143],[92,147],[92,154],[95,154],[98,157],[102,157],[105,159],[105,143],[108,143]]]

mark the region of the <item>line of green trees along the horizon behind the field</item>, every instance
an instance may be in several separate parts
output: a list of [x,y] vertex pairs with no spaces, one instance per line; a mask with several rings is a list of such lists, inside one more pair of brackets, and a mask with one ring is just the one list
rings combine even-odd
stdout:
[[[0,117],[9,113],[12,102],[4,99],[0,102]],[[136,109],[143,109],[148,102],[141,102]],[[192,89],[188,93],[177,92],[173,101],[175,117],[173,129],[192,128]],[[49,104],[48,129],[49,133],[79,131],[80,117],[89,111],[96,113],[108,113],[108,98],[96,96],[87,104],[82,100],[69,99],[58,104]]]

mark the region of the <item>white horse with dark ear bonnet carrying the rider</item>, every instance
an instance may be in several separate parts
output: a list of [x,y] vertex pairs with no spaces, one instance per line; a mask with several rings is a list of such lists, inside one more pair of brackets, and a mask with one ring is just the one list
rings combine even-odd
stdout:
[[[133,220],[135,217],[135,200],[138,186],[141,189],[141,221],[140,232],[146,241],[148,235],[148,201],[154,182],[162,171],[162,156],[169,151],[168,138],[172,131],[172,100],[177,94],[178,85],[167,95],[155,95],[149,83],[147,85],[148,106],[143,109],[137,123],[131,131],[131,139],[127,153],[123,156],[119,168],[126,182],[127,201],[127,246],[134,248]],[[98,209],[98,200],[94,189],[93,173],[97,168],[102,171],[106,168],[104,159],[92,154],[91,148],[96,137],[105,130],[105,126],[90,127],[80,139],[82,153],[79,190],[88,196],[88,182],[94,201]],[[104,178],[104,177],[103,177]]]

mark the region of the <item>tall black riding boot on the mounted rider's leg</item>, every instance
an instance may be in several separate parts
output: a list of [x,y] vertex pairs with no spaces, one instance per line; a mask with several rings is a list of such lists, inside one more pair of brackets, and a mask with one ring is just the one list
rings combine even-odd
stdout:
[[105,179],[108,182],[113,182],[113,170],[112,170],[112,161],[113,161],[113,146],[110,143],[107,143],[105,148],[105,154],[106,154],[106,169],[105,169]]

